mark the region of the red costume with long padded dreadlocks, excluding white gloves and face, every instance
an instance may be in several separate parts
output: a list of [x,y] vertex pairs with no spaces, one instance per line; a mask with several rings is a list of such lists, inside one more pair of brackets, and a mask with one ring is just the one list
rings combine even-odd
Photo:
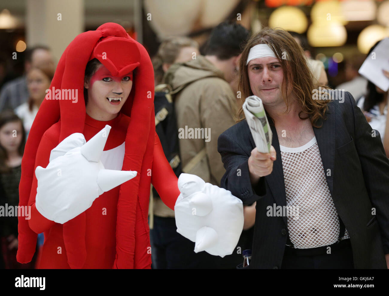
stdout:
[[[108,123],[89,117],[82,100],[86,64],[93,58],[97,58],[112,76],[122,77],[133,71],[130,95],[119,115]],[[150,268],[147,223],[150,183],[172,209],[180,191],[177,177],[155,133],[154,72],[147,51],[131,39],[123,27],[106,23],[96,31],[81,33],[69,44],[58,63],[50,89],[53,87],[76,89],[80,97],[76,103],[72,100],[44,100],[30,130],[22,161],[19,205],[30,205],[32,214],[30,220],[19,217],[18,262],[31,261],[37,233],[44,231],[42,268]],[[105,150],[125,142],[121,169],[137,171],[137,176],[103,193],[91,208],[64,224],[46,219],[35,208],[35,168],[46,167],[51,149],[69,135],[83,133],[88,141],[105,124],[113,126]],[[110,212],[110,222],[100,221],[104,219],[101,214],[104,206]],[[112,217],[117,217],[116,221],[112,222]],[[98,229],[99,223],[107,229]],[[103,235],[98,236],[98,233]],[[112,241],[112,237],[104,236],[109,233],[116,234],[116,248],[96,251],[99,242]],[[60,246],[64,248],[58,252]],[[114,255],[110,255],[112,252]],[[99,256],[100,260],[97,260]]]

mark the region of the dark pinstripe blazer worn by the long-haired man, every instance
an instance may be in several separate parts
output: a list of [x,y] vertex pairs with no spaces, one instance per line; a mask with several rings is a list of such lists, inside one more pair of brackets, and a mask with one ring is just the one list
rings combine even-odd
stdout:
[[[328,104],[326,120],[320,120],[321,128],[313,130],[329,191],[349,232],[354,267],[386,268],[389,160],[378,131],[373,137],[371,126],[352,95],[343,95],[343,103],[333,100]],[[226,169],[221,186],[245,205],[257,201],[251,268],[280,268],[287,240],[287,217],[266,215],[269,205],[286,205],[280,145],[275,127],[271,129],[277,159],[272,173],[262,177],[256,186],[251,185],[249,177],[248,159],[255,144],[247,122],[235,124],[218,139],[218,151]],[[372,215],[374,208],[376,215]]]

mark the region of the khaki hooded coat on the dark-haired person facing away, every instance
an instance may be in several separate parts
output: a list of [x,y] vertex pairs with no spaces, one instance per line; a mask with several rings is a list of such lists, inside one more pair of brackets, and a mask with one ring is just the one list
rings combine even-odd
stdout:
[[204,56],[179,67],[171,85],[173,91],[185,86],[175,95],[183,171],[220,185],[225,170],[217,138],[235,124],[236,96],[223,72]]

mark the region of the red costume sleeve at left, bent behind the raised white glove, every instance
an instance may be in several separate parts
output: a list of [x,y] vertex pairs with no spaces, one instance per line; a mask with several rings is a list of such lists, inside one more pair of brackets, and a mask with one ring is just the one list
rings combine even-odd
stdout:
[[[56,145],[54,145],[46,135],[43,135],[42,140],[40,140],[37,156],[35,159],[35,168],[37,168],[37,166],[46,168],[46,166],[49,164],[50,152],[54,147],[56,147]],[[35,176],[35,168],[30,199],[28,200],[28,205],[31,206],[31,218],[28,220],[28,225],[36,233],[42,233],[50,229],[55,224],[55,222],[43,217],[35,207],[35,196],[37,195],[38,187],[37,177]]]

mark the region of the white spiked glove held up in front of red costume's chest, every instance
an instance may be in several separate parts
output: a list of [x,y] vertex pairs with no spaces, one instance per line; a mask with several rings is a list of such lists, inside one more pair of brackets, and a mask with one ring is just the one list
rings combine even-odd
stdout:
[[100,157],[110,129],[106,125],[88,142],[81,133],[70,135],[51,151],[46,168],[37,166],[35,206],[45,218],[63,224],[91,207],[103,192],[137,175],[104,169]]

